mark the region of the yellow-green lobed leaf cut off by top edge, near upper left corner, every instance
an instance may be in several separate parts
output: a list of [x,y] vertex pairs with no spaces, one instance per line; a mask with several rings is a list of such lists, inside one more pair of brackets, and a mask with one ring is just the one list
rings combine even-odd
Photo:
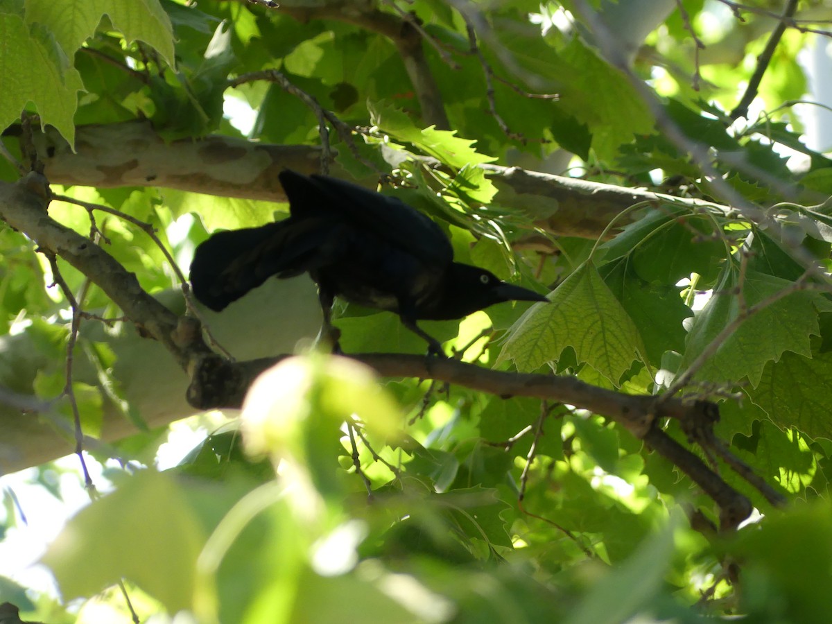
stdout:
[[106,15],[127,43],[137,39],[152,47],[173,64],[173,27],[159,0],[27,0],[26,21],[39,23],[52,32],[67,57],[92,37]]

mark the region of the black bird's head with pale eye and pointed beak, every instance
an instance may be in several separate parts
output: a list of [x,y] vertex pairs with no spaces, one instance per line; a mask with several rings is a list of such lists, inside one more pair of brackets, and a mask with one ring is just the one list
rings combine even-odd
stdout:
[[508,284],[488,270],[454,262],[445,277],[441,305],[434,318],[460,319],[503,301],[548,301],[534,290]]

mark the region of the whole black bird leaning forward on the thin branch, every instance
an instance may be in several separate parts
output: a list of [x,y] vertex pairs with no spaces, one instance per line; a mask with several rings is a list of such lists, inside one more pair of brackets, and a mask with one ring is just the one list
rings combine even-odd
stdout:
[[270,276],[309,273],[318,284],[324,329],[335,295],[399,314],[405,327],[443,354],[418,319],[461,319],[508,300],[546,297],[453,261],[448,238],[432,220],[394,197],[326,176],[282,171],[290,216],[260,227],[210,236],[196,248],[191,285],[196,299],[222,310]]

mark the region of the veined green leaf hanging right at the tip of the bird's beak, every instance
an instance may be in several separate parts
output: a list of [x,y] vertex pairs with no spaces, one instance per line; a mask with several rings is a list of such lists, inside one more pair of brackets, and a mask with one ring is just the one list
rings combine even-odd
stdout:
[[569,275],[549,301],[533,305],[509,329],[498,363],[511,359],[520,370],[535,370],[572,347],[579,363],[618,384],[637,354],[645,352],[636,325],[592,261]]

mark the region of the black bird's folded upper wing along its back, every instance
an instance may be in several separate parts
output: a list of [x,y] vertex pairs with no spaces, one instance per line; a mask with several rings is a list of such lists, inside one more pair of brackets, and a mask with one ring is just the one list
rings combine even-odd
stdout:
[[427,216],[395,197],[369,191],[327,176],[301,176],[281,171],[280,183],[293,215],[329,213],[414,255],[425,265],[444,268],[453,261],[453,247],[442,229]]

